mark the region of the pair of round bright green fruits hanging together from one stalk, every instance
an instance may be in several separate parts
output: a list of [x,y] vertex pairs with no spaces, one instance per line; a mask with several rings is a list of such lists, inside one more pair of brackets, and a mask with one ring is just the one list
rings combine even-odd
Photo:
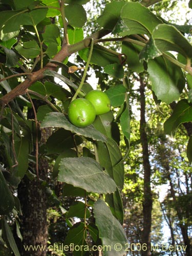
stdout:
[[86,127],[93,123],[96,115],[110,111],[110,99],[102,91],[90,91],[84,98],[73,100],[68,108],[68,117],[77,127]]

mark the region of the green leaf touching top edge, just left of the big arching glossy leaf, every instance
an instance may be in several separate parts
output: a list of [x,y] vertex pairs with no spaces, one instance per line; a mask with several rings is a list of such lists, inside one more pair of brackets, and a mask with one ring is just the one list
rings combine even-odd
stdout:
[[103,13],[97,19],[98,24],[112,30],[118,22],[123,5],[123,2],[117,1],[106,4]]

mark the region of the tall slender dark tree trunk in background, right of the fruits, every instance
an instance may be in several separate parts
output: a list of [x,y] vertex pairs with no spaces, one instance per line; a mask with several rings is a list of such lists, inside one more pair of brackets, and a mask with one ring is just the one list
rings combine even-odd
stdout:
[[140,76],[140,104],[141,104],[141,117],[140,117],[140,138],[142,144],[142,157],[144,168],[144,195],[143,195],[143,230],[142,230],[142,247],[146,245],[147,249],[141,251],[142,256],[151,255],[151,226],[152,226],[152,192],[151,192],[151,165],[148,153],[148,140],[145,132],[145,83]]

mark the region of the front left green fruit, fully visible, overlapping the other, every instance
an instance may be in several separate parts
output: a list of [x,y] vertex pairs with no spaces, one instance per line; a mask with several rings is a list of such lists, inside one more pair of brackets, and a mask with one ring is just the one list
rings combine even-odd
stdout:
[[90,125],[95,120],[95,116],[95,108],[87,99],[78,98],[69,104],[69,120],[77,127]]

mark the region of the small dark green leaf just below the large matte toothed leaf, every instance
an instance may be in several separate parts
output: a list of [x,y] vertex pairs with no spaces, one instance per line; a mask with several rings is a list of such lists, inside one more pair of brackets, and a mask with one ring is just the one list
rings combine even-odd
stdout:
[[73,205],[69,207],[67,217],[68,218],[77,217],[77,218],[84,219],[85,208],[86,208],[86,218],[90,218],[91,214],[89,209],[83,202],[80,202],[80,201],[75,202]]

